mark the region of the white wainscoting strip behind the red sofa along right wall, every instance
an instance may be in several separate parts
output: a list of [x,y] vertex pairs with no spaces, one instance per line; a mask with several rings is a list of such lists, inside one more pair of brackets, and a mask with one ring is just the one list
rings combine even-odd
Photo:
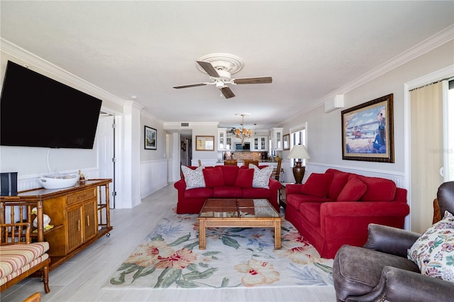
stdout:
[[343,167],[343,166],[333,166],[326,164],[314,164],[308,163],[306,165],[306,173],[304,174],[304,181],[309,177],[311,173],[324,173],[326,169],[338,169],[343,172],[355,173],[364,175],[365,177],[382,177],[385,179],[390,179],[394,181],[397,187],[405,188],[405,177],[404,174],[389,172],[384,170],[374,170],[374,169],[355,169],[352,167]]

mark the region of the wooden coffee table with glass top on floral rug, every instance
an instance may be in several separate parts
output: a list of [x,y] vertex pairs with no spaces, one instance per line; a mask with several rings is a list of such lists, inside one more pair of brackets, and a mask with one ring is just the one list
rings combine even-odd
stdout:
[[206,228],[275,228],[281,248],[281,217],[267,199],[209,198],[199,213],[199,249],[206,247]]

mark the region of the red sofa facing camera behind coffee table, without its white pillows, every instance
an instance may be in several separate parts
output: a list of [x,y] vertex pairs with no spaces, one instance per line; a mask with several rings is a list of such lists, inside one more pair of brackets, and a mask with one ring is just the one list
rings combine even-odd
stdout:
[[279,213],[277,201],[277,191],[281,188],[279,181],[270,179],[267,185],[269,189],[255,188],[254,170],[247,167],[204,167],[203,172],[205,187],[187,189],[183,175],[182,179],[175,182],[174,187],[178,190],[177,213],[200,213],[206,198],[267,198]]

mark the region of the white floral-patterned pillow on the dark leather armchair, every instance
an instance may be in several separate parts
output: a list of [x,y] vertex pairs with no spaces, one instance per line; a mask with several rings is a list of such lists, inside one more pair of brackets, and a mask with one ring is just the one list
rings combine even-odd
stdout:
[[407,257],[418,264],[421,274],[454,282],[454,216],[433,224],[408,250]]

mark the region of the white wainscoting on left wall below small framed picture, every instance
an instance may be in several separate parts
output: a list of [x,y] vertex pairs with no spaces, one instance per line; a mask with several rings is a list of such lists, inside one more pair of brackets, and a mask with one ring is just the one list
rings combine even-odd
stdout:
[[140,162],[140,198],[167,186],[167,160]]

